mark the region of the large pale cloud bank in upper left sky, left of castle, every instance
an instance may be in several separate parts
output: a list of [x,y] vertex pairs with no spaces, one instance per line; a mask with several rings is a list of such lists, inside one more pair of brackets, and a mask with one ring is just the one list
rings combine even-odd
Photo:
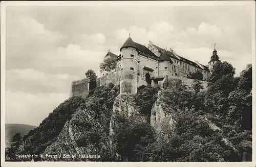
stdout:
[[88,69],[98,72],[98,65],[110,47],[105,45],[106,37],[102,33],[79,34],[76,39],[50,31],[36,19],[15,16],[7,20],[10,27],[6,37],[7,69],[31,68],[42,73],[80,77]]

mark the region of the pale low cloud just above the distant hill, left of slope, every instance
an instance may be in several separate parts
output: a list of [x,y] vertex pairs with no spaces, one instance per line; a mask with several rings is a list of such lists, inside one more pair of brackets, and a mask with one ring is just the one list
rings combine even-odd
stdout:
[[38,126],[60,103],[67,93],[30,94],[22,91],[6,92],[6,123]]

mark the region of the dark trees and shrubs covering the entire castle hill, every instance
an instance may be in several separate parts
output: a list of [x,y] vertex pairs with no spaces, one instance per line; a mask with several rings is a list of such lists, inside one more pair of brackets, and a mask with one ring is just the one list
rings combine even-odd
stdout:
[[[100,155],[55,161],[242,161],[244,152],[252,152],[251,64],[234,77],[231,64],[217,63],[209,81],[207,90],[197,79],[191,89],[182,84],[161,90],[141,86],[135,95],[122,94],[129,101],[118,103],[119,85],[97,87],[86,99],[60,104],[24,142],[16,135],[10,157],[23,152]],[[113,112],[128,103],[135,104],[132,115]],[[175,126],[161,124],[156,133],[150,120],[143,120],[152,115],[154,104],[162,106],[162,116],[172,116]]]

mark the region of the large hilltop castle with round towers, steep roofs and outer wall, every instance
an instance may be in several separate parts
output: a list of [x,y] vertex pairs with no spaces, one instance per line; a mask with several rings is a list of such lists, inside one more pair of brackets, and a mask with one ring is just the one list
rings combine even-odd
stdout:
[[[198,61],[178,56],[172,50],[162,49],[151,41],[146,47],[134,42],[130,36],[121,46],[120,52],[119,56],[110,51],[105,55],[103,62],[110,57],[114,58],[117,61],[116,68],[101,71],[96,81],[97,86],[120,84],[120,93],[136,93],[141,85],[163,85],[168,79],[179,79],[189,86],[192,80],[187,79],[187,76],[197,70],[202,73],[202,83],[206,86],[213,65],[220,62],[216,49],[208,65],[202,65]],[[70,96],[86,96],[89,84],[89,78],[72,82]]]

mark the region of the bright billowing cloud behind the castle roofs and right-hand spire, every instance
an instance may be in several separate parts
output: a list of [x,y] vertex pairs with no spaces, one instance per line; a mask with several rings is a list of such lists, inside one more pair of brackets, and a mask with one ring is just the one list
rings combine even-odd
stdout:
[[[198,27],[187,27],[178,31],[167,22],[154,22],[148,29],[131,26],[128,30],[117,30],[115,35],[120,46],[127,39],[129,32],[135,42],[144,44],[151,40],[162,48],[172,47],[178,55],[192,61],[197,60],[204,65],[208,64],[214,43],[217,43],[220,60],[230,62],[236,68],[236,75],[239,75],[246,64],[251,63],[246,44],[236,36],[236,31],[231,27],[220,28],[201,22]],[[241,48],[238,48],[238,45]],[[241,58],[244,56],[246,58]]]

